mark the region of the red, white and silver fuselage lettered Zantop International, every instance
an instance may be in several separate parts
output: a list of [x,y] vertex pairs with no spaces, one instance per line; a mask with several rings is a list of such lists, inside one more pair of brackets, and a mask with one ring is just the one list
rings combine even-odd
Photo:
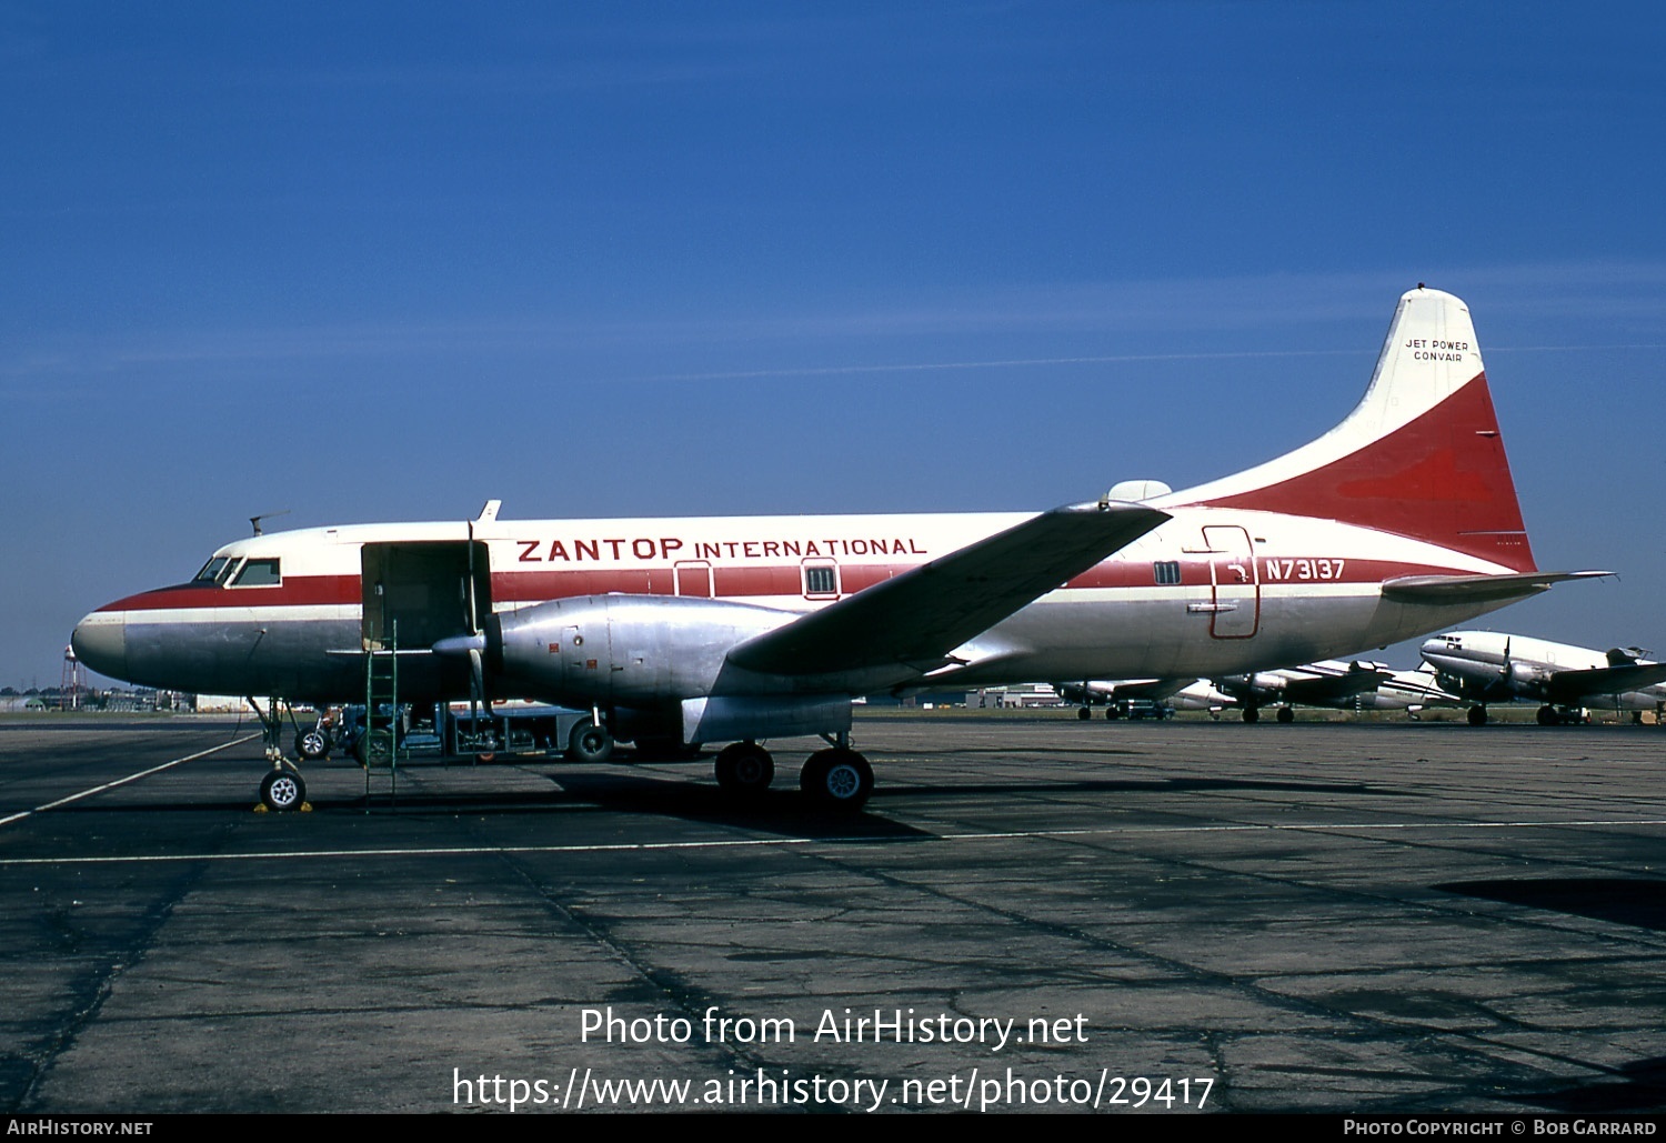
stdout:
[[[152,686],[345,700],[363,690],[362,547],[483,545],[493,610],[610,591],[808,611],[1025,515],[733,517],[388,523],[250,537],[220,548],[235,576],[110,603],[77,628],[102,673]],[[470,537],[470,533],[473,533]],[[686,557],[686,558],[678,558]],[[828,568],[833,590],[808,590]],[[1393,603],[1396,576],[1521,568],[1406,537],[1266,512],[1181,508],[1090,572],[980,635],[955,685],[1126,675],[1213,676],[1379,646],[1489,608]],[[458,615],[463,605],[456,603]],[[1230,610],[1226,610],[1230,608]],[[403,643],[402,643],[403,645]],[[996,651],[991,655],[990,651]],[[991,670],[976,660],[993,658]],[[415,661],[410,663],[415,668]],[[402,663],[402,668],[407,665]],[[418,693],[418,678],[407,683]]]

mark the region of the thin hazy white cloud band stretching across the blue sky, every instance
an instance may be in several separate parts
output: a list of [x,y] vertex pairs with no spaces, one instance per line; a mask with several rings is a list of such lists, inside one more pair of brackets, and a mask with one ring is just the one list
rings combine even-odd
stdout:
[[[1269,273],[1246,277],[1173,278],[1156,282],[1081,282],[1045,287],[1000,287],[930,298],[898,297],[841,307],[836,300],[771,313],[738,308],[750,300],[720,303],[711,313],[675,317],[645,312],[640,318],[585,320],[570,313],[516,315],[503,320],[410,320],[312,325],[265,330],[155,330],[145,335],[107,337],[67,332],[57,338],[12,338],[0,358],[0,392],[22,392],[53,378],[95,380],[133,372],[173,368],[295,368],[322,362],[405,362],[461,357],[476,362],[521,358],[540,368],[568,368],[571,362],[593,382],[721,382],[765,377],[828,377],[906,373],[955,368],[1070,367],[1118,362],[1225,360],[1254,357],[1314,357],[1358,353],[1358,345],[1289,345],[1266,348],[1268,335],[1296,335],[1323,325],[1359,322],[1386,327],[1393,297],[1411,288],[1409,275],[1386,272]],[[1486,298],[1488,312],[1499,303],[1524,315],[1556,313],[1554,328],[1566,342],[1508,345],[1488,342],[1489,353],[1571,350],[1653,350],[1653,340],[1591,340],[1579,332],[1591,318],[1654,320],[1666,327],[1666,265],[1656,263],[1538,263],[1481,267],[1431,275],[1429,285],[1454,288],[1466,298]],[[1221,345],[1246,330],[1241,348]],[[1543,330],[1541,330],[1543,332]],[[1613,330],[1609,330],[1613,332]],[[910,340],[990,338],[1048,340],[1068,345],[1091,337],[1095,348],[1106,338],[1128,343],[1128,353],[968,355],[965,358],[908,360]],[[1165,350],[1163,343],[1211,338],[1211,350]],[[778,360],[783,348],[796,360],[780,365],[663,370],[631,365],[650,357],[723,347],[755,345],[763,358]],[[895,353],[876,353],[890,347]],[[1369,347],[1374,350],[1376,347]],[[866,362],[806,362],[815,357],[866,355]],[[595,358],[618,362],[611,375],[598,375]],[[878,358],[878,360],[875,360]],[[886,360],[890,358],[890,360]],[[693,362],[691,362],[693,363]],[[525,368],[516,365],[515,368]]]

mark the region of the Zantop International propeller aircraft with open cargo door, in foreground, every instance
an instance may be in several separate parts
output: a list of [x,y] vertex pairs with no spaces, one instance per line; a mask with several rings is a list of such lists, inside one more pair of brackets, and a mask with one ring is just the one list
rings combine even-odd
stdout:
[[[613,736],[731,741],[716,776],[741,791],[771,780],[760,740],[820,735],[801,788],[860,806],[856,695],[1304,663],[1573,575],[1534,567],[1469,310],[1419,287],[1341,425],[1186,492],[1130,482],[1030,517],[500,520],[493,502],[228,543],[73,643],[135,683],[323,703],[363,696],[367,656],[395,650],[402,701],[591,710],[581,758]],[[273,766],[268,803],[298,803]]]

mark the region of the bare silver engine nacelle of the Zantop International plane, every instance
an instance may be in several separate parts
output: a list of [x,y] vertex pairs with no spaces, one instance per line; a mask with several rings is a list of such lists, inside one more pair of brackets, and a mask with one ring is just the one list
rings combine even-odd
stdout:
[[713,690],[736,643],[790,611],[666,595],[581,595],[491,618],[498,690],[566,706],[663,708]]

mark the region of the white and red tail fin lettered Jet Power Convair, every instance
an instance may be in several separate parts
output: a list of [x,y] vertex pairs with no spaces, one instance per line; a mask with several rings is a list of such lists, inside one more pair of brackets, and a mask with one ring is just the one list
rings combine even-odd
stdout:
[[1341,425],[1156,503],[1171,505],[1324,517],[1536,570],[1469,308],[1421,285],[1399,298],[1371,385]]

